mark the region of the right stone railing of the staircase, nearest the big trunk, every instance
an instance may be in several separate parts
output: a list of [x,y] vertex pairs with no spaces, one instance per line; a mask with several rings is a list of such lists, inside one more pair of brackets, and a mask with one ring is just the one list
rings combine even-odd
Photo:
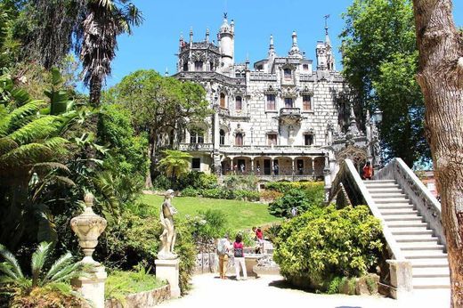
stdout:
[[379,170],[374,178],[375,180],[395,180],[413,205],[417,207],[419,214],[424,216],[429,227],[435,231],[439,243],[446,247],[441,204],[401,158],[394,158],[387,166]]

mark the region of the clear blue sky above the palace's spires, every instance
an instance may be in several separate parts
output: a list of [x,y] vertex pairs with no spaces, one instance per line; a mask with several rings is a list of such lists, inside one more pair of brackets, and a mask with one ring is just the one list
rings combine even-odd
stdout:
[[[315,45],[324,39],[324,18],[329,14],[329,37],[335,50],[345,23],[341,14],[353,0],[133,0],[142,11],[144,22],[134,28],[132,36],[119,36],[117,57],[112,63],[112,76],[107,87],[117,84],[137,69],[156,69],[175,74],[180,34],[188,41],[190,28],[193,41],[204,40],[206,28],[210,39],[216,38],[223,22],[235,21],[235,62],[248,56],[251,65],[267,55],[269,36],[274,38],[278,55],[287,55],[291,34],[297,32],[297,43],[305,56],[315,60]],[[463,0],[453,0],[454,20],[463,27]],[[337,52],[337,69],[341,69]],[[315,62],[315,61],[314,61]]]

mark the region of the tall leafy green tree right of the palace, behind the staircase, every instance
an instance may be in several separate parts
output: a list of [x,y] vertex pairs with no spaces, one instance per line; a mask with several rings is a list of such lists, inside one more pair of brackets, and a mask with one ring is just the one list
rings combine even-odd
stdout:
[[409,166],[428,158],[410,0],[355,0],[344,18],[343,74],[357,112],[383,111],[380,131],[388,158],[401,157]]

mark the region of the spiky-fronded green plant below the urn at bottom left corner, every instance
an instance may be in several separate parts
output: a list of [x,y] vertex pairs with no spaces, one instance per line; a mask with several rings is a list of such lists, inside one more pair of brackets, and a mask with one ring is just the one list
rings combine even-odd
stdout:
[[[77,304],[82,297],[73,291],[70,280],[85,274],[85,266],[75,263],[70,253],[61,255],[53,265],[45,270],[45,263],[50,256],[52,243],[42,242],[31,258],[31,277],[26,277],[21,271],[18,260],[3,245],[0,245],[0,255],[4,262],[0,263],[0,287],[12,296],[12,307],[28,306],[44,301],[47,293],[58,295],[63,303],[71,300]],[[57,304],[56,306],[59,306]]]

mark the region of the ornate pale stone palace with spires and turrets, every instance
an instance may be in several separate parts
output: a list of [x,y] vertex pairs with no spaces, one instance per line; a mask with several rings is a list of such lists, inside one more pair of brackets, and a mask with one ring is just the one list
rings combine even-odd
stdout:
[[215,110],[183,132],[179,148],[193,157],[192,170],[256,174],[262,182],[325,178],[328,184],[339,158],[373,160],[376,126],[368,118],[372,129],[360,132],[352,106],[340,99],[347,85],[325,29],[316,63],[299,49],[295,31],[288,55],[275,53],[270,36],[266,58],[252,67],[235,62],[234,21],[226,14],[217,45],[208,29],[199,42],[192,29],[188,42],[180,37],[175,77],[203,85]]

